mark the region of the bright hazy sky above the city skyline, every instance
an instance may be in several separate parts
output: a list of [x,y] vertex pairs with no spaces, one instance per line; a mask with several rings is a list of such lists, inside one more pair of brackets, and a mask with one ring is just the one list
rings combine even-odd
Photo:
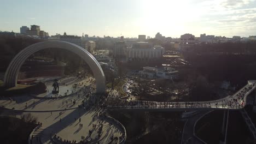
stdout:
[[0,0],[0,31],[39,25],[50,35],[179,38],[256,35],[256,0]]

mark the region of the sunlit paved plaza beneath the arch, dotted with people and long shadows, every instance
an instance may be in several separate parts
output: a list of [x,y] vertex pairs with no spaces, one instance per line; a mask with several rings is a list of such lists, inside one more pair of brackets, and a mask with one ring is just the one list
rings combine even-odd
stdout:
[[[46,93],[19,95],[12,97],[11,100],[2,98],[0,106],[22,110],[23,113],[30,112],[38,118],[42,127],[33,132],[32,143],[51,143],[55,134],[62,141],[87,140],[91,143],[117,143],[118,140],[113,140],[113,137],[119,139],[124,132],[114,122],[100,116],[104,111],[92,103],[91,99],[96,92],[95,79],[88,77],[79,80],[75,77],[69,77],[69,79],[65,77],[59,82],[65,82],[65,85],[60,85],[59,96],[65,95],[68,89],[66,97],[55,98],[55,95],[51,94],[52,83],[49,82],[46,83],[49,90]],[[76,88],[73,87],[75,83],[78,84]],[[5,111],[3,115],[9,115],[9,113]],[[17,117],[20,114],[17,114]],[[98,131],[102,131],[100,136]]]

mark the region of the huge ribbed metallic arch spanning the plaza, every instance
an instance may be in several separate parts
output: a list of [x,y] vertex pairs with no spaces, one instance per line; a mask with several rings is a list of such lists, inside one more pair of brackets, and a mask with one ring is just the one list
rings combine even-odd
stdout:
[[43,41],[30,45],[25,49],[21,50],[10,62],[7,71],[5,72],[4,86],[15,87],[20,67],[26,61],[26,59],[33,53],[48,48],[65,49],[83,58],[83,60],[88,63],[89,67],[92,70],[92,73],[94,73],[94,77],[96,79],[96,93],[102,94],[106,91],[105,76],[100,64],[97,62],[95,57],[78,45],[60,40]]

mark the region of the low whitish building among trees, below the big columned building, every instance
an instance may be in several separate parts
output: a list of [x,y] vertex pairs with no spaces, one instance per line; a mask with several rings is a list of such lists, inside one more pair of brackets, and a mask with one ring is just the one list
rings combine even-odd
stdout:
[[150,79],[177,79],[178,71],[170,68],[154,68],[154,67],[143,67],[143,70],[139,71],[139,75]]

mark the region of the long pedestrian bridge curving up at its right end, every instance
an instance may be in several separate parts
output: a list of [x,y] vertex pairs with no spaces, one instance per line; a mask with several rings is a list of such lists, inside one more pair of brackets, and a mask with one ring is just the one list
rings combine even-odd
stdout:
[[256,80],[249,80],[247,85],[233,95],[212,101],[187,101],[187,102],[157,102],[157,101],[127,101],[120,100],[108,109],[114,110],[146,110],[146,111],[177,111],[199,109],[229,109],[238,110],[246,105],[247,96],[256,88]]

